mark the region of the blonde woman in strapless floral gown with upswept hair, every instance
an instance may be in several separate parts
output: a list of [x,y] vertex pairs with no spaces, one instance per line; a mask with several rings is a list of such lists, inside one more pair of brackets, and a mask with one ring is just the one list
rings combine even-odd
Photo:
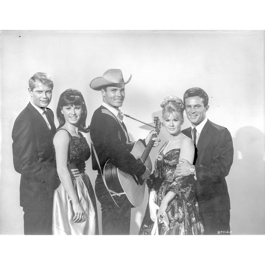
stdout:
[[194,159],[193,141],[181,132],[184,105],[179,97],[167,96],[160,106],[163,126],[170,138],[161,147],[155,170],[148,179],[149,203],[139,234],[202,234],[194,175],[177,176],[175,172],[179,159],[191,164]]

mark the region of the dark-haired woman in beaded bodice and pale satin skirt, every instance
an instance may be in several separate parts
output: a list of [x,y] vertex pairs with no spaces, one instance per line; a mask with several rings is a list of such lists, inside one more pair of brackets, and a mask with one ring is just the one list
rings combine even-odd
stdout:
[[[89,126],[85,125],[86,117],[87,108],[80,91],[65,90],[59,97],[59,127],[53,140],[57,172],[61,180],[60,186],[54,191],[54,235],[98,234],[95,194],[85,173],[85,161],[91,155],[87,140],[81,133],[89,132]],[[78,177],[72,179],[69,168],[78,168]]]

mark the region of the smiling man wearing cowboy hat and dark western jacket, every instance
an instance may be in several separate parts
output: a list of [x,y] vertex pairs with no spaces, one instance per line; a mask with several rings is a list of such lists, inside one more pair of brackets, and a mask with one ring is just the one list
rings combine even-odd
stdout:
[[[101,168],[107,160],[110,160],[117,168],[135,176],[139,183],[142,183],[140,176],[149,170],[130,153],[132,144],[125,124],[122,122],[123,114],[119,109],[125,98],[125,85],[130,82],[131,77],[132,75],[125,82],[120,69],[108,69],[102,77],[96,77],[90,82],[93,90],[101,91],[103,99],[102,105],[92,116],[90,136]],[[153,133],[151,132],[145,140],[140,141],[146,146]],[[153,140],[154,146],[159,145],[159,138],[155,137]],[[100,167],[92,151],[92,168],[98,170],[95,193],[102,208],[102,234],[128,235],[130,234],[130,205],[124,203],[118,208],[104,185]]]

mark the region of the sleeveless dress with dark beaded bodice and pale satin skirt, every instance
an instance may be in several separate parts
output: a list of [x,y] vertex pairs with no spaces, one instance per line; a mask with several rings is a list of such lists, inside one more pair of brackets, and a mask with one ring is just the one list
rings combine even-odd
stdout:
[[85,173],[85,161],[91,155],[90,147],[86,138],[83,137],[80,132],[80,138],[70,135],[69,132],[68,134],[70,143],[67,167],[69,170],[78,168],[80,172],[79,176],[75,180],[72,180],[72,182],[80,205],[84,211],[84,217],[80,223],[74,223],[72,221],[74,218],[72,202],[61,183],[54,191],[52,234],[95,235],[98,234],[96,198],[90,179]]

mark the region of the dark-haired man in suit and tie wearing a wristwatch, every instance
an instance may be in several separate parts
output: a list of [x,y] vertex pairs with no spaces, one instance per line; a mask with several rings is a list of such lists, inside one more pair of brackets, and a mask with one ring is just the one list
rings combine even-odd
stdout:
[[196,181],[197,201],[204,234],[230,234],[230,199],[225,177],[233,163],[230,132],[206,117],[208,95],[198,87],[188,89],[183,99],[191,127],[183,130],[195,145],[193,165],[180,159],[179,176],[192,175]]

